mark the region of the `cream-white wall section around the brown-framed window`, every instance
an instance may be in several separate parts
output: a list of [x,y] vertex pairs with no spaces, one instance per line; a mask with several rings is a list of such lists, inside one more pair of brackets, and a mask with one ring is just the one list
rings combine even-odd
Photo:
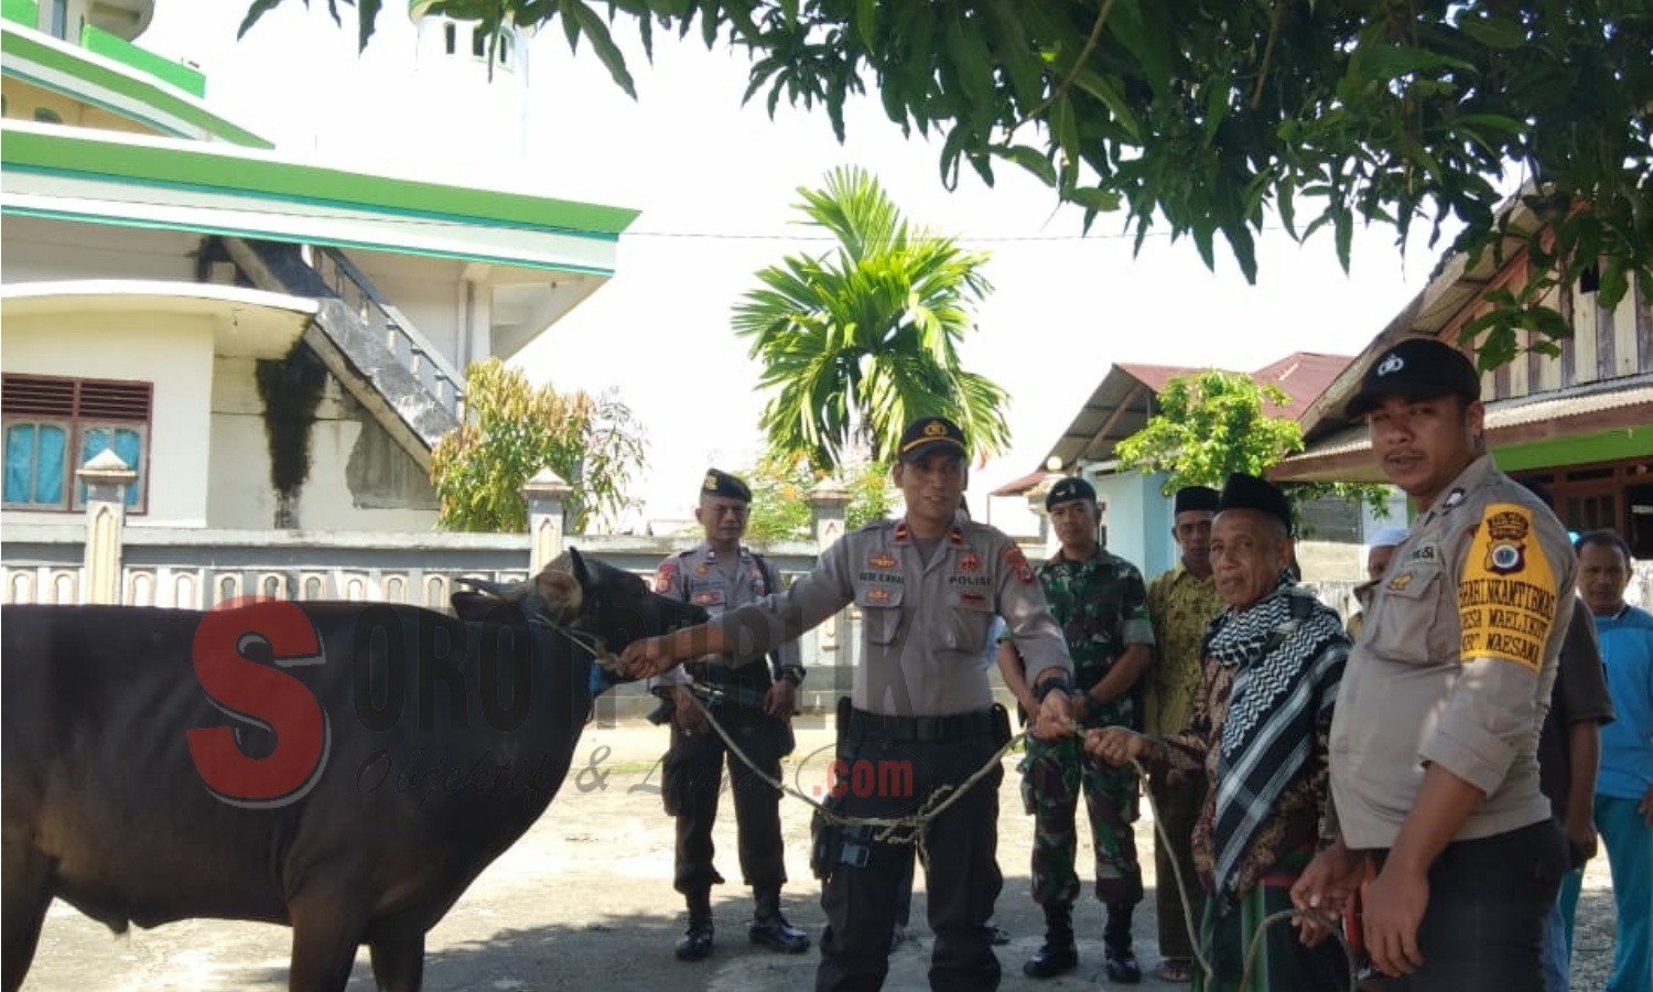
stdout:
[[[207,524],[213,369],[210,321],[179,314],[93,312],[8,317],[5,322],[7,372],[154,384],[149,499],[145,513],[134,522]],[[64,522],[74,514],[7,511],[7,519]]]

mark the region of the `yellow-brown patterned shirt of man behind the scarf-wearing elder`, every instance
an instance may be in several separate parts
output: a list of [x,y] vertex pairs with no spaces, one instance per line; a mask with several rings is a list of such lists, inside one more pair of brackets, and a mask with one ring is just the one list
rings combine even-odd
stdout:
[[1189,726],[1200,691],[1200,641],[1222,612],[1217,582],[1210,575],[1200,579],[1180,562],[1147,587],[1159,655],[1144,680],[1142,726],[1149,734],[1175,734]]

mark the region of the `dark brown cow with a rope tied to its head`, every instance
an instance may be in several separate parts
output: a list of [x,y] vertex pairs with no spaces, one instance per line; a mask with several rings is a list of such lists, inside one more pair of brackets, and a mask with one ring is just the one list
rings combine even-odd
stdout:
[[124,932],[293,926],[289,989],[345,987],[360,944],[417,990],[425,932],[555,795],[593,650],[704,618],[570,552],[461,594],[198,613],[5,607],[3,985],[51,899]]

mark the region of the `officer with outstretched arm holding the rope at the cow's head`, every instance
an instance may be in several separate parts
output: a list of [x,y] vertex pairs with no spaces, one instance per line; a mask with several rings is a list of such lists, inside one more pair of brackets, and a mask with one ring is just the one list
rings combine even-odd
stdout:
[[[709,653],[750,658],[855,603],[861,656],[853,698],[840,706],[838,767],[848,785],[836,808],[850,817],[911,815],[939,787],[990,769],[929,822],[924,848],[936,934],[931,987],[997,989],[998,961],[984,926],[1003,883],[995,858],[1003,770],[992,759],[1010,729],[980,663],[993,615],[1003,617],[1027,661],[1040,703],[1036,732],[1066,731],[1073,666],[1017,544],[990,526],[955,517],[967,481],[959,427],[942,417],[912,422],[898,458],[893,478],[906,499],[901,521],[846,534],[784,594],[701,627],[633,641],[623,658],[633,676]],[[826,911],[815,987],[878,989],[889,971],[896,889],[914,847],[851,825],[822,828],[815,853]]]

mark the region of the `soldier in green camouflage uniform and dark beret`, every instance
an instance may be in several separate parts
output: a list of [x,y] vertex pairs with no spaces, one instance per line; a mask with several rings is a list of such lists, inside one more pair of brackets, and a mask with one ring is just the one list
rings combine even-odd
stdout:
[[[1045,498],[1061,551],[1040,565],[1050,612],[1063,627],[1074,666],[1073,719],[1084,727],[1141,729],[1142,673],[1152,663],[1154,630],[1147,589],[1131,562],[1096,541],[1096,489],[1079,478],[1056,483]],[[1025,693],[1015,648],[1005,645],[1000,670],[1013,691]],[[1027,703],[1023,703],[1027,704]],[[1139,982],[1131,949],[1131,914],[1142,901],[1142,868],[1136,835],[1137,779],[1112,769],[1071,737],[1028,739],[1022,795],[1033,813],[1033,901],[1045,909],[1045,946],[1022,966],[1035,979],[1071,971],[1079,962],[1073,937],[1076,810],[1083,792],[1096,851],[1096,898],[1108,906],[1103,932],[1109,980]]]

